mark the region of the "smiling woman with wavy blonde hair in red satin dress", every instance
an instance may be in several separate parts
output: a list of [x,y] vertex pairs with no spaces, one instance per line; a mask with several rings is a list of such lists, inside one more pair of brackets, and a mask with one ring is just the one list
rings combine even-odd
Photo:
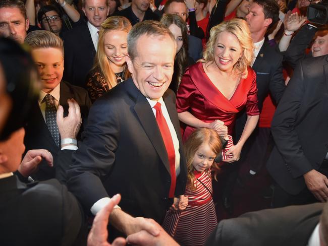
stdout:
[[237,113],[246,107],[247,121],[225,162],[239,160],[240,152],[257,125],[256,74],[253,43],[242,19],[223,22],[210,30],[204,59],[190,66],[177,93],[179,119],[187,127],[183,139],[200,127],[214,129],[220,136],[234,135]]

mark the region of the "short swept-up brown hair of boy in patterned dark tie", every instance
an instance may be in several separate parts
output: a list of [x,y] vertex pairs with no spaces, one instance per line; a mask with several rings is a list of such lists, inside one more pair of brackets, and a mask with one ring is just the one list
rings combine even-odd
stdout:
[[64,56],[63,40],[52,32],[45,30],[29,32],[25,38],[25,43],[32,49],[58,48],[62,50]]

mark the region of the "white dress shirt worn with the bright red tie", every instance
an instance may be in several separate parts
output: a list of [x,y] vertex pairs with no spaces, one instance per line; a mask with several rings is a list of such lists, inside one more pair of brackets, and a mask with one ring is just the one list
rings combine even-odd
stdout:
[[[149,102],[151,109],[154,113],[154,116],[156,117],[156,109],[154,109],[155,104],[157,103],[156,100],[150,100],[146,97],[147,101]],[[179,152],[179,140],[178,140],[178,136],[177,133],[174,129],[174,126],[172,124],[168,109],[165,105],[165,102],[163,100],[163,98],[159,98],[158,102],[160,103],[160,107],[161,107],[161,111],[162,114],[165,118],[165,120],[167,121],[170,133],[171,133],[171,137],[172,137],[172,141],[173,141],[173,145],[174,145],[174,151],[176,153],[176,176],[179,175],[180,173],[180,152]],[[92,207],[91,207],[91,213],[93,215],[96,215],[104,206],[106,206],[106,204],[110,201],[111,199],[109,197],[104,197],[99,199],[97,202],[95,202]],[[120,208],[119,206],[115,206],[114,208]]]

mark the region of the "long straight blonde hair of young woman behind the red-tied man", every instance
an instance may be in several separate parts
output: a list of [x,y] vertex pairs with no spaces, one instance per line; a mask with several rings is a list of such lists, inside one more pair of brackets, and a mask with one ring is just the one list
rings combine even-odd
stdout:
[[[123,16],[112,16],[107,18],[102,24],[99,31],[99,38],[98,38],[98,47],[97,47],[97,54],[94,58],[94,63],[92,67],[92,71],[97,71],[100,75],[105,79],[108,86],[113,88],[117,85],[117,80],[114,71],[111,68],[110,62],[105,53],[105,44],[104,44],[104,37],[107,32],[118,30],[118,31],[125,31],[129,33],[132,26],[130,21],[123,17]],[[130,76],[129,70],[126,70],[124,75],[125,78]]]

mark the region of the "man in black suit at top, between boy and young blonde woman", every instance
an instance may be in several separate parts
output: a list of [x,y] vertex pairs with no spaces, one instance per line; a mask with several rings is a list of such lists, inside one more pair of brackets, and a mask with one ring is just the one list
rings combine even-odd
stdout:
[[86,76],[92,68],[97,50],[98,31],[110,11],[108,0],[83,0],[82,10],[87,23],[63,34],[65,70],[63,79],[85,87]]

